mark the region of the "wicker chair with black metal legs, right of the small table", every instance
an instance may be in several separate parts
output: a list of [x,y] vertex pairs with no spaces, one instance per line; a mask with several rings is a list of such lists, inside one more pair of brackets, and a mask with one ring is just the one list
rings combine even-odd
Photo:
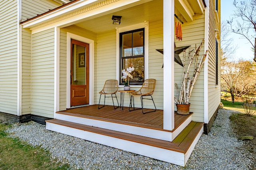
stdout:
[[[142,109],[143,114],[152,112],[152,111],[148,111],[148,112],[143,111],[143,99],[152,100],[153,104],[155,106],[155,109],[153,111],[156,111],[156,105],[155,105],[154,100],[151,96],[153,94],[154,90],[155,90],[155,86],[156,86],[156,79],[147,79],[142,84],[142,87],[140,88],[140,90],[138,90],[136,92],[132,92],[130,94],[131,95],[131,100],[130,100],[129,111],[136,110],[134,108],[134,96],[140,96],[141,108],[139,108],[139,109]],[[151,99],[150,98],[144,98],[144,96],[150,96]],[[132,104],[133,104],[133,109],[130,110],[130,108],[132,107]]]

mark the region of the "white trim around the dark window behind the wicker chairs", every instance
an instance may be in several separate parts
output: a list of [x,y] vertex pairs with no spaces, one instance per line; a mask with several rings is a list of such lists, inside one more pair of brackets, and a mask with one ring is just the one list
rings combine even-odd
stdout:
[[[148,79],[148,21],[143,23],[138,23],[135,25],[130,25],[127,27],[116,27],[116,80],[118,80],[118,87],[123,87],[124,85],[119,85],[120,77],[120,35],[119,33],[132,31],[134,29],[144,28],[144,80]],[[141,85],[130,85],[131,87],[140,87]]]

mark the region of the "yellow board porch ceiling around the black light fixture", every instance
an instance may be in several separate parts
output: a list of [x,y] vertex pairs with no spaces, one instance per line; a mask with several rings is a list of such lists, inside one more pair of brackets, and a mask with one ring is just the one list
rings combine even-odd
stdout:
[[[178,16],[184,18],[184,22],[192,21],[194,14],[203,14],[204,6],[202,0],[177,0],[184,3],[176,2],[175,9]],[[191,4],[191,5],[190,5]],[[184,10],[186,9],[186,10]],[[112,16],[122,16],[120,25],[112,24]],[[76,23],[74,25],[100,33],[108,30],[113,30],[116,27],[126,27],[137,23],[143,23],[144,21],[157,21],[163,20],[163,1],[153,0],[138,6],[126,8],[116,12],[105,14],[91,20]]]

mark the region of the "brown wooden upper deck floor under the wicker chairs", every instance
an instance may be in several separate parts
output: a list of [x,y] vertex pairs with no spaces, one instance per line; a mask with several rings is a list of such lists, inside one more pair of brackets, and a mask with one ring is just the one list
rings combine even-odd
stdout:
[[[163,110],[157,109],[156,111],[143,114],[141,109],[134,111],[129,111],[128,109],[129,107],[124,107],[124,110],[120,107],[114,109],[113,106],[105,106],[98,109],[98,105],[91,105],[67,109],[65,111],[58,111],[56,113],[164,130]],[[148,109],[148,111],[149,110],[150,109]],[[175,113],[174,129],[176,129],[189,116],[190,115],[177,115]]]

